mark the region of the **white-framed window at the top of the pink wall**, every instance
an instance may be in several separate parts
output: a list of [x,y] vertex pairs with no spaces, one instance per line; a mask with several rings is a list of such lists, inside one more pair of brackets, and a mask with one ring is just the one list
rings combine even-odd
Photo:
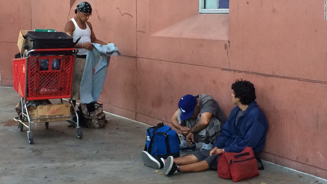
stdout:
[[229,0],[199,0],[199,13],[229,13]]

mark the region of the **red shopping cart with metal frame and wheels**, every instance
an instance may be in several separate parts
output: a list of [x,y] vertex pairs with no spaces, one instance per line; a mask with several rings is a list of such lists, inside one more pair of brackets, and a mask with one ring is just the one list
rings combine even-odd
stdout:
[[[18,127],[28,128],[28,142],[33,144],[31,123],[44,122],[48,129],[49,121],[65,121],[74,115],[42,116],[32,118],[27,109],[27,101],[70,98],[74,75],[75,56],[78,50],[65,49],[34,49],[30,50],[26,58],[13,59],[13,84],[19,93],[22,104],[22,115],[14,118],[19,122]],[[72,102],[70,101],[72,105]],[[70,106],[68,104],[68,106]],[[77,138],[81,139],[82,129],[79,126],[77,111]],[[27,124],[28,122],[28,124]]]

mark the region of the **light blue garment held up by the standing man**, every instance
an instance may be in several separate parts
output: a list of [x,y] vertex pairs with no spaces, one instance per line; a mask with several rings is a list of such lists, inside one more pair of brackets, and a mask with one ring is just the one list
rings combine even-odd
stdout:
[[[93,43],[93,50],[88,50],[82,80],[80,84],[80,99],[82,104],[97,102],[110,62],[110,56],[121,55],[117,46],[113,43],[100,45]],[[96,70],[93,74],[93,70]]]

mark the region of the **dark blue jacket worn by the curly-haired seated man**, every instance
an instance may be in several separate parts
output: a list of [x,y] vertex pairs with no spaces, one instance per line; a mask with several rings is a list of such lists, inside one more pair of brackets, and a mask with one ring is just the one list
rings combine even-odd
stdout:
[[247,146],[258,153],[266,142],[268,123],[266,116],[257,103],[251,102],[235,126],[236,115],[240,108],[232,109],[214,147],[224,148],[226,152],[239,153]]

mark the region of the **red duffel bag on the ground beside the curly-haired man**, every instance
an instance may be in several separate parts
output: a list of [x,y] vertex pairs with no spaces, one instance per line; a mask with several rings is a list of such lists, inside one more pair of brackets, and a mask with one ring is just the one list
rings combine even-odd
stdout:
[[[259,157],[256,157],[251,147],[246,147],[241,153],[221,152],[218,154],[217,172],[222,178],[234,182],[259,175],[259,169],[264,167]],[[258,169],[257,160],[261,167]]]

